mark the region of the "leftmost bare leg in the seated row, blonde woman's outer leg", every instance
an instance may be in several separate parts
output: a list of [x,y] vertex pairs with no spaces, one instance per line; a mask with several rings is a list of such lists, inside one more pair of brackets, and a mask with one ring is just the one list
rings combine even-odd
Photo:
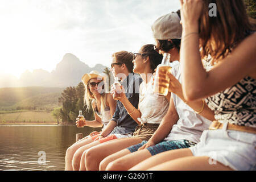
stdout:
[[76,142],[74,144],[72,144],[72,146],[68,147],[67,151],[66,151],[66,156],[65,156],[65,170],[66,171],[72,171],[73,167],[72,167],[72,159],[73,156],[75,154],[75,152],[82,146],[85,146],[86,144],[89,144],[93,142],[92,139],[88,138],[88,139],[83,139],[83,140],[79,140],[79,142]]

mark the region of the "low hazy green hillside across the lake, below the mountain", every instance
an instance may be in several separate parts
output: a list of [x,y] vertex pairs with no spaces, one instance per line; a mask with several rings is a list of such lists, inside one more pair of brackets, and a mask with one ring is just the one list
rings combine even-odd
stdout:
[[30,86],[0,88],[0,110],[3,109],[53,109],[64,88]]

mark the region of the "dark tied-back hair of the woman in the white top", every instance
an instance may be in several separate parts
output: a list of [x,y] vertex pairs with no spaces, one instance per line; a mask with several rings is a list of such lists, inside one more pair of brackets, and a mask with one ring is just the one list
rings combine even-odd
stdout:
[[141,48],[144,57],[148,56],[150,60],[150,68],[154,72],[155,68],[162,63],[163,56],[155,51],[153,44],[146,44]]

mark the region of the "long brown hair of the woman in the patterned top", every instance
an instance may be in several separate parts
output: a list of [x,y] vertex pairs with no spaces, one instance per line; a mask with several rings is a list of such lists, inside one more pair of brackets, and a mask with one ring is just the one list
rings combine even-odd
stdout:
[[[216,3],[217,16],[209,16],[209,4]],[[205,0],[199,19],[201,58],[212,56],[212,64],[224,59],[248,34],[255,31],[242,0]],[[213,47],[214,44],[214,47]]]

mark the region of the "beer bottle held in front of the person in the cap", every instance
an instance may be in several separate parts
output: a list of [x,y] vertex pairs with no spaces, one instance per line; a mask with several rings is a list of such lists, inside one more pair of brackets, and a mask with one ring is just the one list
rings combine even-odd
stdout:
[[167,72],[171,73],[171,67],[169,66],[170,57],[170,53],[165,52],[163,54],[162,63],[156,67],[154,92],[159,94],[159,96],[167,96],[168,94],[170,79],[166,75]]

